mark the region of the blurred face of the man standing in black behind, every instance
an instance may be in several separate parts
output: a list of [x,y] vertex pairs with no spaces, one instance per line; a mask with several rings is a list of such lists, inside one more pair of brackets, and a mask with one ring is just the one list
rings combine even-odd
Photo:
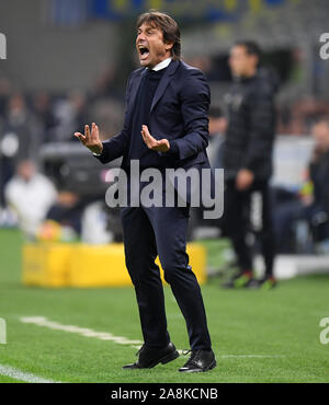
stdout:
[[257,67],[257,57],[249,55],[245,46],[236,45],[230,49],[228,62],[232,76],[237,78],[252,74]]

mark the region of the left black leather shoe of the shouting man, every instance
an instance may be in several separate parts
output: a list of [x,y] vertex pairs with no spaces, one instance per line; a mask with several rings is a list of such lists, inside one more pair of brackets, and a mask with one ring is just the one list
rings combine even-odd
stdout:
[[136,355],[139,355],[138,360],[132,364],[124,366],[123,369],[151,369],[159,362],[166,364],[180,356],[171,342],[168,346],[160,349],[143,345]]

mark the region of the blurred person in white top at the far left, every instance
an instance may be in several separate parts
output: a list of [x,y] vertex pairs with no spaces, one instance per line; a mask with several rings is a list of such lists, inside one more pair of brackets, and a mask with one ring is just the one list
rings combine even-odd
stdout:
[[20,228],[29,238],[35,238],[48,209],[57,199],[53,183],[38,173],[30,160],[19,163],[16,173],[4,189],[8,206],[18,216]]

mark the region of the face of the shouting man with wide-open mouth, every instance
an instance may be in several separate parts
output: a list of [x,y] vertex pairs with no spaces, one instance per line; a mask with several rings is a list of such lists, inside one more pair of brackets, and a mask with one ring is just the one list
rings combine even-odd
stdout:
[[152,69],[170,57],[172,44],[164,44],[161,30],[144,23],[137,30],[136,48],[140,65]]

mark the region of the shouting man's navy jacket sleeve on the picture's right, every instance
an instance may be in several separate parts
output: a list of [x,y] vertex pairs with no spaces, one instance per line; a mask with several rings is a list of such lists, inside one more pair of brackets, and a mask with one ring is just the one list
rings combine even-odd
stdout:
[[186,159],[208,146],[211,91],[202,71],[191,69],[180,91],[184,136],[170,141],[179,159]]

